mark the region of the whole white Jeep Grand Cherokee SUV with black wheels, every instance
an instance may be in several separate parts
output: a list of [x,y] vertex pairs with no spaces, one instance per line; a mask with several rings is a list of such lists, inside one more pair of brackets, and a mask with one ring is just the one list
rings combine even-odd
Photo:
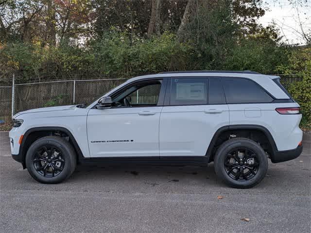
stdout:
[[132,78],[88,105],[20,112],[12,156],[41,183],[76,164],[214,162],[228,185],[259,183],[302,151],[299,105],[279,77],[251,71],[164,72]]

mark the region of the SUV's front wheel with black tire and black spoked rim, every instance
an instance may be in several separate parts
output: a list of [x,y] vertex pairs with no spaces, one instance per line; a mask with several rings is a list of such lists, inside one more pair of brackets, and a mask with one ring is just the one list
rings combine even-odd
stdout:
[[[52,157],[49,154],[53,154]],[[71,144],[65,139],[46,136],[39,138],[30,146],[25,162],[28,172],[36,181],[61,183],[73,173],[76,167],[76,154]]]

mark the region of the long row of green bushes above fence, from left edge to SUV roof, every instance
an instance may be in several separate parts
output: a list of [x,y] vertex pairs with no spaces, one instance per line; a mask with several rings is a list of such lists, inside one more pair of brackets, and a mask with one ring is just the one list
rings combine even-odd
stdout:
[[165,70],[191,69],[194,50],[188,43],[176,43],[173,33],[152,39],[125,33],[106,33],[87,47],[60,44],[42,48],[40,44],[8,43],[0,49],[0,74],[15,73],[19,81],[40,77],[68,78],[117,74],[130,77]]

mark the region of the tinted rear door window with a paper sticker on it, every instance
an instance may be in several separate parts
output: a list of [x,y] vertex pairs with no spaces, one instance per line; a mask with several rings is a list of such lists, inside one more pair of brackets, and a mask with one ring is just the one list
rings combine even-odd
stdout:
[[172,78],[170,104],[207,104],[207,79]]

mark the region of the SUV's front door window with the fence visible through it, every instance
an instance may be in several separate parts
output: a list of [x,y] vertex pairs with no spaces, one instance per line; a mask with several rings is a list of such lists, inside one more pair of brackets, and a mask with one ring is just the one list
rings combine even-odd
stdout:
[[156,106],[161,89],[161,81],[139,82],[128,86],[115,96],[112,101],[116,107]]

